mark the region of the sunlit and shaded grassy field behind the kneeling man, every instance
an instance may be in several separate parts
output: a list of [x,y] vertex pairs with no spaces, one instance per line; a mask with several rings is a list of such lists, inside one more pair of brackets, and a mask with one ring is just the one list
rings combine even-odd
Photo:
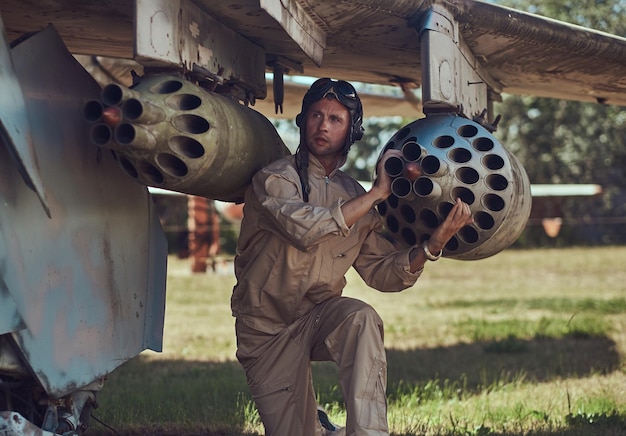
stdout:
[[[506,250],[442,259],[384,294],[356,273],[345,294],[385,321],[393,435],[626,434],[626,247]],[[231,268],[170,258],[164,351],[111,374],[89,434],[259,435],[235,360]],[[331,363],[319,397],[345,412]]]

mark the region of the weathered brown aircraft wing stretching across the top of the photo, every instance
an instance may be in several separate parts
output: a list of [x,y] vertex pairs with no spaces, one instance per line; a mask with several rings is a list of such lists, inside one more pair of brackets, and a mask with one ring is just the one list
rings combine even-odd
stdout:
[[[145,8],[152,12],[146,13]],[[213,57],[205,59],[202,50],[188,50],[189,56],[170,53],[176,52],[175,43],[163,56],[146,53],[145,47],[159,36],[151,35],[146,45],[137,40],[137,28],[142,28],[138,23],[145,21],[144,15],[161,17],[173,29],[169,36],[174,41],[197,45],[198,41],[190,43],[193,25],[168,22],[177,8],[199,11],[196,16],[206,14],[234,31],[244,40],[243,45],[233,38],[228,42],[242,52],[242,59],[230,65],[221,62],[224,56],[217,59],[216,50],[211,50]],[[219,76],[222,82],[249,82],[247,88],[259,99],[267,94],[264,80],[259,84],[258,74],[249,80],[242,72],[247,68],[242,65],[245,57],[258,55],[246,45],[248,42],[261,50],[258,56],[264,57],[265,68],[279,66],[289,74],[406,87],[433,86],[431,80],[435,79],[426,71],[430,67],[424,65],[428,59],[434,62],[432,71],[436,74],[451,62],[452,70],[464,76],[462,86],[480,82],[488,88],[490,98],[507,92],[626,104],[626,39],[480,1],[2,0],[0,9],[9,39],[53,22],[73,53],[139,58],[143,64],[155,64],[159,58],[157,64],[165,60],[186,64],[187,68],[191,68],[190,59],[195,53],[192,60],[205,71]],[[160,14],[155,13],[159,10]],[[202,39],[206,26],[202,20],[198,22],[197,32]],[[428,38],[423,36],[430,31],[449,39],[458,55],[437,59],[437,51],[445,43],[436,41],[434,49],[429,48],[424,42]],[[206,44],[200,41],[200,45]],[[459,79],[444,76],[436,78],[439,80]],[[447,99],[451,105],[463,104],[471,112],[477,112],[482,105],[468,109],[471,103],[463,98],[447,96],[445,90],[442,94],[428,94],[425,100]]]

